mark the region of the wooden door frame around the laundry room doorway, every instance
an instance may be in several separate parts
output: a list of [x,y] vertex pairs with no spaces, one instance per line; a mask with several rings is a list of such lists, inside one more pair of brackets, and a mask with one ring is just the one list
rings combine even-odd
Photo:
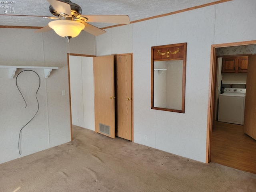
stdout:
[[256,44],[256,40],[243,41],[243,42],[233,42],[233,43],[223,43],[223,44],[213,44],[211,46],[211,56],[210,56],[210,75],[209,75],[209,91],[208,91],[208,109],[207,109],[207,132],[206,132],[206,163],[210,162],[210,140],[212,135],[212,126],[214,118],[214,104],[215,104],[215,84],[216,84],[216,61],[217,52],[216,48],[221,47],[231,47],[231,46],[242,46]]

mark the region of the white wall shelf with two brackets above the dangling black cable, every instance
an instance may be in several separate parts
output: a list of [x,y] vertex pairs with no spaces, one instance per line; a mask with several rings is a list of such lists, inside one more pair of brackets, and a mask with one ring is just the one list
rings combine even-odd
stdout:
[[9,78],[10,79],[13,79],[17,69],[43,69],[44,70],[44,78],[48,78],[48,76],[50,76],[50,73],[53,69],[58,69],[58,67],[13,66],[13,65],[0,65],[0,68],[8,68],[9,69]]

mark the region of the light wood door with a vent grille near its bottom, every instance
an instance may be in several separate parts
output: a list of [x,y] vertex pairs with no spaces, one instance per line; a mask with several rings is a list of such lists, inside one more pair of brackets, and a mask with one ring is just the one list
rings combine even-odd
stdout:
[[114,56],[93,58],[95,132],[115,138]]

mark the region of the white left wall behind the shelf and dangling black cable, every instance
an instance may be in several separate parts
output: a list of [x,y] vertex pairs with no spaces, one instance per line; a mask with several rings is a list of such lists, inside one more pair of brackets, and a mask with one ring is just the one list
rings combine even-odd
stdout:
[[[18,69],[13,79],[8,69],[0,68],[0,163],[7,162],[71,140],[68,88],[67,51],[95,54],[94,37],[85,33],[67,44],[53,31],[43,34],[34,29],[0,28],[0,65],[55,66],[48,78],[43,70],[38,72],[41,85],[38,90],[38,114],[23,128],[21,152],[18,151],[19,131],[37,110],[34,88],[38,78],[34,73],[22,72],[18,76],[24,101],[16,87]],[[77,43],[79,42],[79,44]],[[29,85],[29,86],[28,86]],[[62,96],[62,90],[66,95]]]

